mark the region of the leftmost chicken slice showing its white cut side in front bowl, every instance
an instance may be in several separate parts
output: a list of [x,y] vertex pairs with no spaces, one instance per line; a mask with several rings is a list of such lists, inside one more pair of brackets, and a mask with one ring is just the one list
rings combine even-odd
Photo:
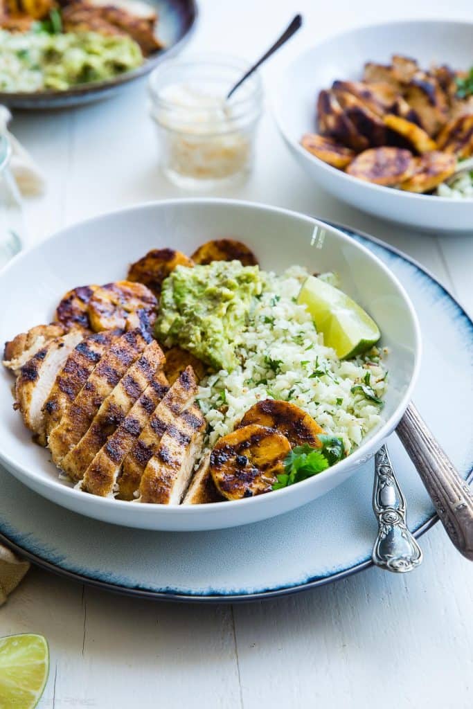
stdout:
[[82,333],[79,330],[56,337],[21,367],[15,386],[15,408],[20,409],[23,421],[35,434],[41,435],[43,432],[43,404],[57,372],[80,340]]

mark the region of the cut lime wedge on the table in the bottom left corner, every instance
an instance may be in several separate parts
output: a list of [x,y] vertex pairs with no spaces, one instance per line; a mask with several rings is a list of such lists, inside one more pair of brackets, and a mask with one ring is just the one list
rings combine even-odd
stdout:
[[49,649],[43,635],[0,638],[0,709],[33,709],[49,672]]

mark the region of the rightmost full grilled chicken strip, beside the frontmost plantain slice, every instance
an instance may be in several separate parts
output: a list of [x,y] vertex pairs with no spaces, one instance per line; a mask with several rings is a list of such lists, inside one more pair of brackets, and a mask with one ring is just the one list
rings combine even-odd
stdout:
[[139,502],[179,505],[204,442],[206,420],[193,404],[162,435],[140,481]]

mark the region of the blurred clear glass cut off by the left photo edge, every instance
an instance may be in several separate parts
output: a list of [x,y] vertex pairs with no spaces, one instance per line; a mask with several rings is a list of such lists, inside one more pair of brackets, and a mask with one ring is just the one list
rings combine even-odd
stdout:
[[21,250],[21,197],[10,172],[11,147],[0,134],[0,268]]

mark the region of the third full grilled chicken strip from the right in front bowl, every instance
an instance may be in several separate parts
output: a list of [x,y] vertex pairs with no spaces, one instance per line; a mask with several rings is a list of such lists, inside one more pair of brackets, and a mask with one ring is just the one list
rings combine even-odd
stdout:
[[169,384],[165,374],[156,372],[150,385],[135,401],[121,425],[89,464],[82,480],[82,490],[101,497],[113,495],[123,460],[167,391]]

